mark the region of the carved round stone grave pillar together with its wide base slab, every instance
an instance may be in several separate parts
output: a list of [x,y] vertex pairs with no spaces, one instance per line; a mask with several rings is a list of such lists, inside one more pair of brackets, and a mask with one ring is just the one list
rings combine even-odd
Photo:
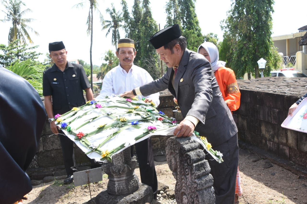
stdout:
[[136,157],[131,157],[130,148],[112,156],[112,163],[103,164],[108,175],[107,190],[100,192],[87,204],[144,204],[153,200],[153,190],[139,183],[134,173]]

